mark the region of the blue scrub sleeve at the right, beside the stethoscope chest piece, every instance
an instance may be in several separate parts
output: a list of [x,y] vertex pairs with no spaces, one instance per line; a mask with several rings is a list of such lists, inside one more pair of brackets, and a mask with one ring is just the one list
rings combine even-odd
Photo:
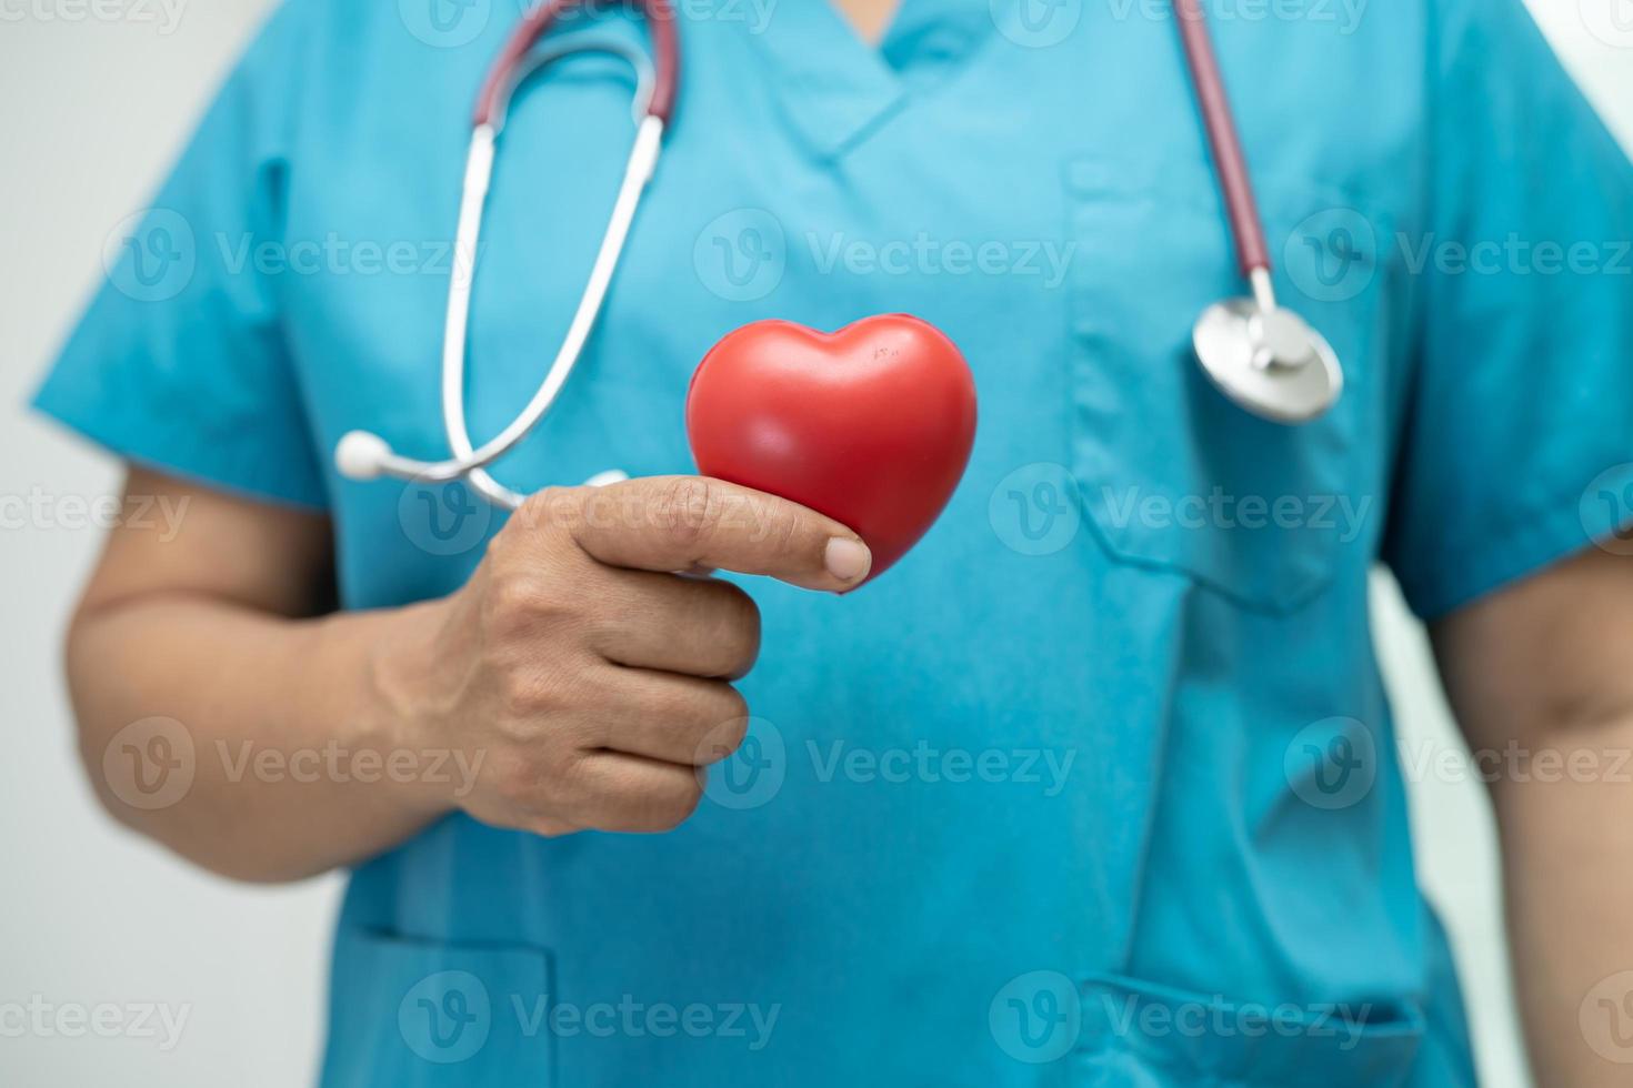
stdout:
[[1437,0],[1427,261],[1383,542],[1437,618],[1633,515],[1633,166],[1520,0]]

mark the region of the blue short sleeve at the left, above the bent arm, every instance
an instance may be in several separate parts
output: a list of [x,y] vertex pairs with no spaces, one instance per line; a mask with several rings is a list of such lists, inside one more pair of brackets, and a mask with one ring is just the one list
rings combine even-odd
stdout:
[[34,406],[131,462],[322,507],[276,282],[250,259],[283,230],[299,18],[273,15],[152,207],[109,233],[100,287]]

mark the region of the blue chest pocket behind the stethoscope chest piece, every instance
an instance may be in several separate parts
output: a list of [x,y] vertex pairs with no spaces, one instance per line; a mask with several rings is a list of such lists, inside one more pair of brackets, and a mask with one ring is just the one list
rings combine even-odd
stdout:
[[1207,305],[1246,294],[1212,175],[1073,160],[1071,462],[1114,558],[1285,613],[1375,532],[1355,444],[1386,344],[1373,241],[1385,233],[1336,191],[1256,181],[1279,297],[1333,344],[1344,395],[1300,426],[1228,401],[1190,346]]

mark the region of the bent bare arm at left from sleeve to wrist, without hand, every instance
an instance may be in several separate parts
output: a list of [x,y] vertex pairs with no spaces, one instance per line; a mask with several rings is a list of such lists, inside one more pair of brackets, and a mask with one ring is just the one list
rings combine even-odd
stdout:
[[[80,752],[109,812],[206,868],[271,881],[364,858],[446,811],[447,798],[412,783],[297,783],[242,762],[247,750],[407,742],[384,713],[371,659],[379,643],[402,643],[429,621],[434,605],[323,617],[333,595],[327,517],[142,470],[126,494],[181,514],[173,538],[113,529],[69,626]],[[171,731],[163,752],[186,760],[193,783],[175,803],[160,794],[158,807],[139,807],[118,772],[147,759],[150,737],[121,731],[155,716],[180,723],[181,742]],[[109,745],[126,741],[134,749],[106,767]],[[157,775],[158,763],[132,773]]]

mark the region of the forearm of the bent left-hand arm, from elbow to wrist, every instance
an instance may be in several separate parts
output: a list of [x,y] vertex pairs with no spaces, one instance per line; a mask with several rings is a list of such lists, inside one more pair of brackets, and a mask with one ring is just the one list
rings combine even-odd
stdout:
[[452,807],[477,759],[429,750],[392,692],[385,662],[423,652],[438,607],[286,620],[154,594],[82,613],[69,680],[98,794],[238,879],[390,848]]

